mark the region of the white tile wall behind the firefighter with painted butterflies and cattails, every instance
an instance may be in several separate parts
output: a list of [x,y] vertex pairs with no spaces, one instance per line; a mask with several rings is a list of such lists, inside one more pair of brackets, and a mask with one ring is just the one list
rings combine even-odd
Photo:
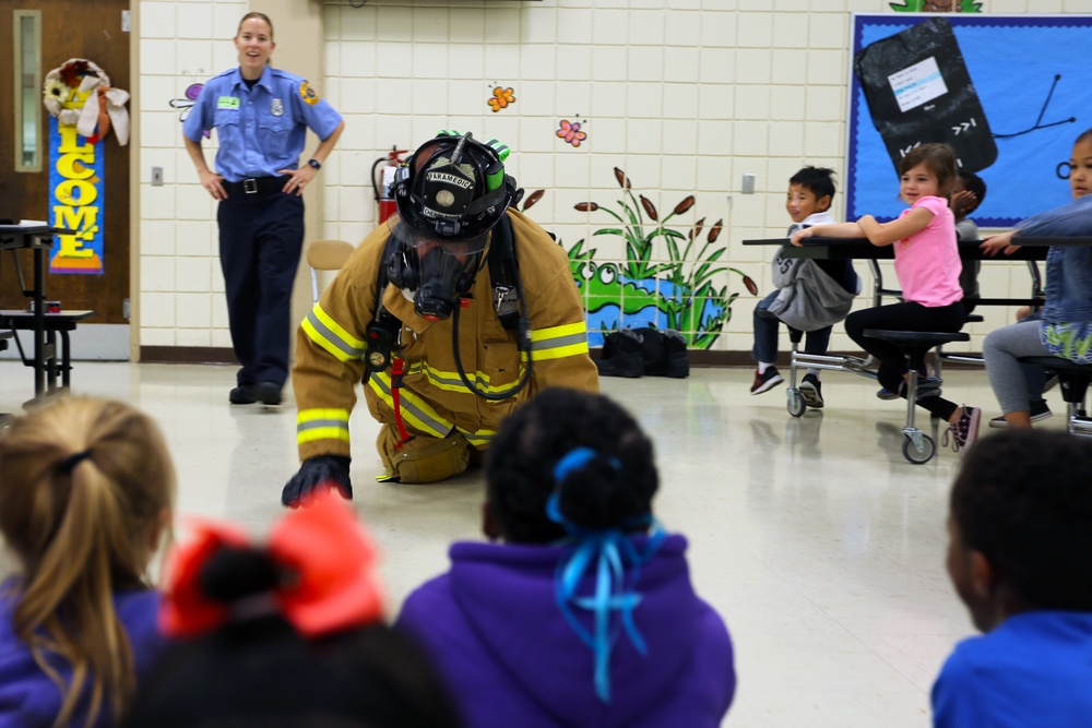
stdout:
[[[1092,12],[1092,0],[984,3],[990,13]],[[327,47],[317,51],[327,62],[321,89],[345,116],[346,130],[324,169],[317,236],[355,242],[375,226],[368,175],[392,145],[413,147],[441,128],[468,129],[513,148],[509,170],[529,192],[546,190],[531,216],[567,247],[585,238],[600,250],[596,260],[622,254],[617,241],[591,239],[607,224],[603,213],[573,210],[578,202],[617,200],[618,167],[662,213],[693,193],[697,202],[677,229],[722,218],[724,262],[764,294],[768,253],[740,240],[782,234],[786,180],[800,166],[830,166],[843,180],[851,14],[888,7],[887,0],[378,0],[353,8],[327,0]],[[140,168],[163,166],[167,181],[140,191],[143,345],[230,343],[214,206],[197,183],[178,112],[167,102],[235,63],[230,38],[249,9],[246,0],[140,2]],[[293,43],[283,29],[277,40]],[[486,102],[497,85],[512,87],[517,100],[492,112]],[[556,136],[561,119],[579,121],[589,134],[579,148]],[[205,147],[213,154],[215,138]],[[756,175],[755,195],[739,192],[744,172]],[[843,210],[840,196],[834,207]],[[986,270],[984,284],[1023,291],[1022,270]],[[753,297],[737,275],[719,285],[741,295],[714,346],[748,350]],[[986,314],[1000,324],[1010,312]],[[970,348],[990,327],[980,325]],[[838,333],[832,345],[852,346]]]

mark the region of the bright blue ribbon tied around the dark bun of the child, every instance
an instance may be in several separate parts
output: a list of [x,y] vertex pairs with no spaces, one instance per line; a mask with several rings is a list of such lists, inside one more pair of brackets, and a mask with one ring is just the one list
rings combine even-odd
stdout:
[[[597,453],[590,447],[570,451],[554,467],[555,480],[560,485],[566,476],[596,456]],[[616,468],[621,467],[617,460],[610,458],[610,462]],[[637,584],[641,566],[656,553],[666,534],[651,513],[631,518],[615,528],[583,528],[561,513],[557,491],[546,502],[546,515],[569,534],[561,545],[572,547],[558,563],[555,575],[557,606],[580,640],[592,648],[595,655],[595,694],[604,703],[609,703],[610,652],[619,633],[626,633],[637,652],[648,654],[644,639],[633,622],[633,610],[641,604],[642,597],[632,589],[632,585]],[[642,526],[651,526],[653,530],[645,548],[639,550],[625,532]],[[595,588],[589,596],[578,595],[577,589],[593,564]],[[627,566],[630,566],[629,589],[626,587]],[[572,606],[592,612],[593,632],[580,623]],[[610,614],[615,611],[619,613],[620,624],[612,629]]]

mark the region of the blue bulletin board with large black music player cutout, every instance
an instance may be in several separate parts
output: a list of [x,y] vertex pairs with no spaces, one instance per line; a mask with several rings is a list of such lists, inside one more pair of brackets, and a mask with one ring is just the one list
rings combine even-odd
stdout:
[[898,217],[897,160],[927,142],[986,182],[980,227],[1069,202],[1065,163],[1092,127],[1090,37],[1090,15],[854,14],[846,219]]

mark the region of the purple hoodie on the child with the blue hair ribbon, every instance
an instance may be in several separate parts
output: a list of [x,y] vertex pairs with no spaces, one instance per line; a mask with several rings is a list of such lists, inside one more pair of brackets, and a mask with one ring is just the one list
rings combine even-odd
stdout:
[[686,547],[668,536],[641,569],[633,621],[648,655],[618,634],[609,703],[595,694],[592,649],[557,606],[562,548],[454,544],[451,571],[410,595],[397,625],[431,655],[467,728],[715,728],[736,687],[732,642],[693,592]]

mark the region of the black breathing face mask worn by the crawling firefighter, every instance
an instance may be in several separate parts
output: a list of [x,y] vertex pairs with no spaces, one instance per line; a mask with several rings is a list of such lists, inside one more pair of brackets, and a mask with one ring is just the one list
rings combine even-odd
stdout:
[[450,318],[459,299],[474,285],[488,234],[471,240],[437,240],[394,216],[388,224],[388,279],[413,300],[417,315],[429,321]]

